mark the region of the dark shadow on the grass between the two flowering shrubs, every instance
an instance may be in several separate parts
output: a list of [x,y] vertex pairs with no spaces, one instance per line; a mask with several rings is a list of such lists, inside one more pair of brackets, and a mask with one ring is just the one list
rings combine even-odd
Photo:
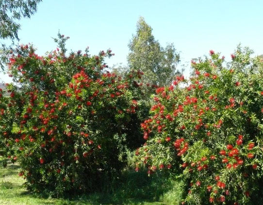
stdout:
[[[110,188],[105,187],[106,191],[82,195],[69,194],[63,199],[58,199],[56,205],[143,205],[153,202],[155,205],[167,205],[167,203],[160,201],[162,201],[164,193],[173,189],[175,183],[171,177],[167,177],[163,173],[148,177],[146,172],[126,171],[113,184],[109,185]],[[21,192],[20,195],[48,199],[48,197],[27,191]],[[178,197],[181,197],[180,193]]]

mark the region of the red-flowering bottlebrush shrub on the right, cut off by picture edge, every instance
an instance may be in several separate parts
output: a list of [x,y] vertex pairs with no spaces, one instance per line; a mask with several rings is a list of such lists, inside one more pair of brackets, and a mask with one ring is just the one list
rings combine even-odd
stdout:
[[[187,193],[182,204],[251,203],[263,168],[263,63],[237,48],[224,57],[192,62],[193,75],[158,88],[151,117],[142,123],[143,147],[136,170],[173,170],[180,165]],[[190,183],[188,183],[190,182]]]

